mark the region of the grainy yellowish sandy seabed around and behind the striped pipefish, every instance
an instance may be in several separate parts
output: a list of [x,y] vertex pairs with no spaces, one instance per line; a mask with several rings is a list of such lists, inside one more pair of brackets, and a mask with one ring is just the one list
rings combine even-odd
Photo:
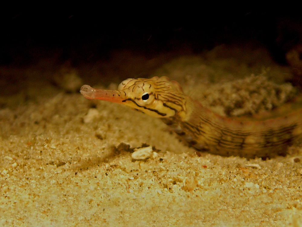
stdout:
[[[197,154],[160,119],[79,93],[82,84],[114,89],[129,77],[168,76],[217,113],[244,116],[299,92],[285,83],[288,67],[263,48],[225,45],[112,56],[77,69],[54,70],[49,59],[1,69],[25,76],[2,81],[0,226],[302,225],[301,146],[270,160]],[[133,161],[142,145],[153,156]]]

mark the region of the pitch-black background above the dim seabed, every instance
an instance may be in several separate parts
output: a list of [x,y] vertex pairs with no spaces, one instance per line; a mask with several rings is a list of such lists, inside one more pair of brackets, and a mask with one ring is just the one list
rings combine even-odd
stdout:
[[284,53],[301,41],[298,10],[226,7],[218,11],[195,5],[178,10],[136,6],[131,11],[123,7],[117,11],[113,6],[36,7],[3,9],[1,65],[32,64],[58,53],[62,62],[72,60],[77,65],[97,61],[117,49],[154,56],[188,46],[198,53],[222,43],[248,41],[265,45],[278,63],[285,64]]

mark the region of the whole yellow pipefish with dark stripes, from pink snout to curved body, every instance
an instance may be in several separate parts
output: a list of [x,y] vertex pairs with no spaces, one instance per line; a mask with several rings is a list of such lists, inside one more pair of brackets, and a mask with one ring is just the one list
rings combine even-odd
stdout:
[[117,90],[83,85],[80,92],[88,99],[123,104],[159,117],[189,146],[221,156],[285,155],[288,146],[302,137],[302,108],[268,120],[223,117],[185,95],[181,86],[168,77],[127,79]]

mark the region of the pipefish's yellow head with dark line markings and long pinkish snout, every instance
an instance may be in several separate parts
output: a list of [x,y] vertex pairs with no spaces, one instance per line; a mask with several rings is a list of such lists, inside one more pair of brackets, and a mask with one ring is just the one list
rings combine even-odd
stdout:
[[127,79],[120,83],[117,90],[83,85],[80,92],[88,99],[123,104],[153,117],[172,117],[185,111],[186,96],[180,85],[168,77]]

